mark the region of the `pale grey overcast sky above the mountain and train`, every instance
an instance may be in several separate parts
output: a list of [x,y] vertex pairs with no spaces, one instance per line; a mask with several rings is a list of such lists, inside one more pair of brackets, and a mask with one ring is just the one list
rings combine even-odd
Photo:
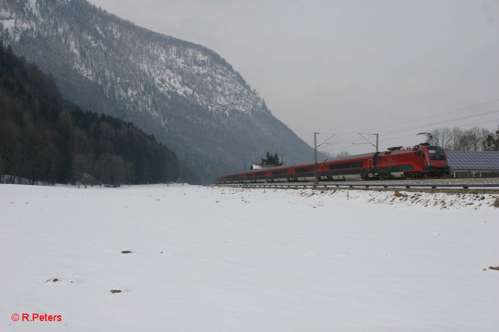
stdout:
[[372,150],[351,144],[362,142],[356,133],[380,133],[385,150],[421,143],[415,134],[436,127],[499,124],[499,112],[469,117],[499,110],[491,102],[499,99],[499,0],[90,2],[213,49],[307,143],[314,132],[336,134],[332,153]]

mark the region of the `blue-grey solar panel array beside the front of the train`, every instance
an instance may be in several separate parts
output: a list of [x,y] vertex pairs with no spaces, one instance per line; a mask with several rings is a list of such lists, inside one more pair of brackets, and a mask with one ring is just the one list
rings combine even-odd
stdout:
[[499,170],[499,151],[448,151],[447,163],[453,170]]

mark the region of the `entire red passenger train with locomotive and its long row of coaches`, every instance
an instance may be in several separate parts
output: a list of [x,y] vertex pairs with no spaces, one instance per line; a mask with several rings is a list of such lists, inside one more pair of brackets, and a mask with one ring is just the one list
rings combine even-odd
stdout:
[[290,182],[347,179],[442,177],[450,173],[442,147],[421,144],[411,148],[327,159],[317,163],[276,166],[218,176],[216,183]]

